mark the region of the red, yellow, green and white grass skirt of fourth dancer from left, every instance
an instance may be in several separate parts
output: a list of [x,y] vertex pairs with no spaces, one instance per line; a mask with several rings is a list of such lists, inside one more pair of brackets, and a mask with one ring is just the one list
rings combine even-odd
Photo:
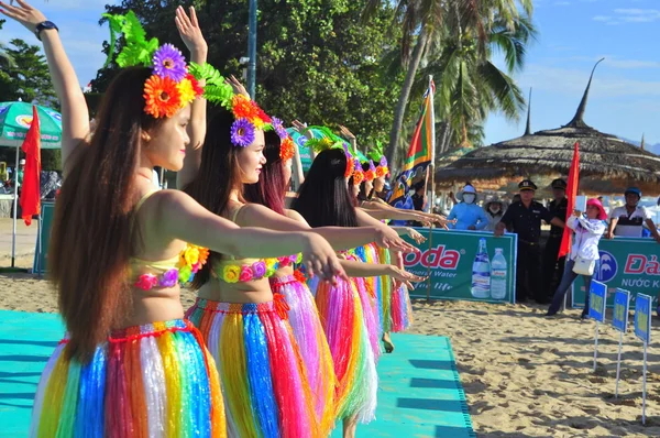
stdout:
[[316,303],[338,379],[337,417],[369,423],[376,412],[378,329],[374,299],[363,282],[358,284],[359,280],[319,282]]

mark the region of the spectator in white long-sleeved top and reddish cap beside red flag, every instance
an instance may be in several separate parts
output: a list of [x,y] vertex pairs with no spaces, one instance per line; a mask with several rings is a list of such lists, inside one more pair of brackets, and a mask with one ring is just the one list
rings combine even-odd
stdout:
[[591,288],[592,276],[598,269],[598,259],[601,259],[598,254],[598,241],[605,232],[606,219],[607,213],[601,201],[597,199],[590,199],[588,202],[586,202],[586,218],[582,216],[582,211],[575,211],[574,216],[566,222],[566,226],[575,233],[573,248],[571,249],[571,254],[566,261],[561,283],[554,292],[552,304],[546,316],[553,316],[559,311],[569,287],[571,287],[571,284],[578,278],[578,275],[582,275],[584,277],[585,291],[582,319],[587,317],[588,292]]

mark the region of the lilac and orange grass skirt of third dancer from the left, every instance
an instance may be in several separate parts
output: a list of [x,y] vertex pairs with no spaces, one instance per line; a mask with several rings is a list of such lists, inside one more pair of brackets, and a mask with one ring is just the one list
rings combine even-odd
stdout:
[[271,288],[275,297],[282,295],[286,299],[288,321],[307,369],[319,432],[327,436],[334,426],[337,377],[314,296],[294,275],[271,277]]

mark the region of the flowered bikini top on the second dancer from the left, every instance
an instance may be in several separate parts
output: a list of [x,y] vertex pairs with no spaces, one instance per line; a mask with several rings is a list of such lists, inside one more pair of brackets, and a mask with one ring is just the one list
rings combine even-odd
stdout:
[[[245,205],[233,211],[232,222],[235,223],[237,217],[243,207]],[[211,274],[226,283],[251,282],[253,280],[271,277],[279,267],[300,263],[301,259],[301,254],[278,259],[234,259],[233,256],[229,256],[229,259],[213,261]]]

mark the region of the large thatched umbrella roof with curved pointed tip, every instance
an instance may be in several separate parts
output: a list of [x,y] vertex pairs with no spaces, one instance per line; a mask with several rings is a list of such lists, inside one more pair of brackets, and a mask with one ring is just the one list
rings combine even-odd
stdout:
[[660,183],[660,156],[615,135],[600,132],[584,122],[596,66],[578,111],[568,124],[531,133],[528,106],[527,128],[522,136],[469,152],[448,166],[438,168],[436,180],[485,183],[535,175],[566,175],[573,157],[573,145],[579,142],[582,188],[591,187],[597,191],[597,183],[606,182],[602,191],[605,194],[619,193],[627,185],[652,187]]

